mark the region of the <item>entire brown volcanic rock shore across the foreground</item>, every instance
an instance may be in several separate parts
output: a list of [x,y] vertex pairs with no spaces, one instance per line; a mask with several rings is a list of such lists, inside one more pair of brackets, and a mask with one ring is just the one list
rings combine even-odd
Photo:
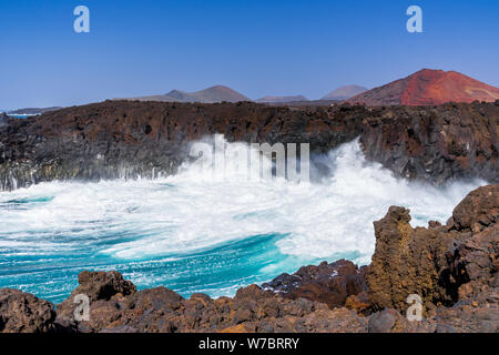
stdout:
[[[83,272],[57,310],[0,290],[0,332],[499,332],[499,185],[472,191],[446,225],[413,229],[393,206],[375,222],[369,266],[337,261],[240,288],[234,298],[136,291],[118,272]],[[74,303],[90,301],[89,321]],[[409,295],[421,321],[406,317]],[[413,313],[411,313],[413,314]]]

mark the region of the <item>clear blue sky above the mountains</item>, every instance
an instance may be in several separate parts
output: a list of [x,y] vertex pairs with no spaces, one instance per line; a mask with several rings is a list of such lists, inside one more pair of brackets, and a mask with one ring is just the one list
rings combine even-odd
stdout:
[[[73,31],[90,9],[91,32]],[[406,31],[422,8],[424,33]],[[499,87],[499,1],[0,0],[0,108],[228,85],[318,99],[422,69]]]

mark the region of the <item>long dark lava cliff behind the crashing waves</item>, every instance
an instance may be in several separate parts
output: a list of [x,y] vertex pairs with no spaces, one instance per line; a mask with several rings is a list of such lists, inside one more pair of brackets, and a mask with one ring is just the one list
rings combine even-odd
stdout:
[[0,190],[52,180],[175,173],[193,140],[304,143],[324,153],[360,136],[368,160],[397,176],[499,181],[498,103],[431,108],[268,106],[106,101],[0,128]]

